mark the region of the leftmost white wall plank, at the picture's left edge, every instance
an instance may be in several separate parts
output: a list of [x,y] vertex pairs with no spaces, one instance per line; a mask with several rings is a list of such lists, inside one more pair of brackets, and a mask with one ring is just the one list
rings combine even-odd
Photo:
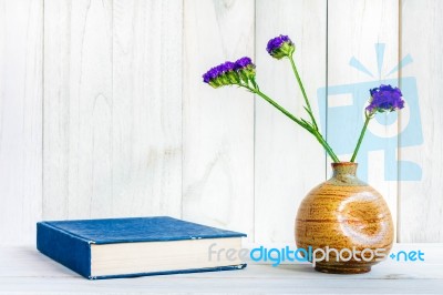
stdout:
[[30,243],[42,199],[43,1],[0,1],[0,243]]

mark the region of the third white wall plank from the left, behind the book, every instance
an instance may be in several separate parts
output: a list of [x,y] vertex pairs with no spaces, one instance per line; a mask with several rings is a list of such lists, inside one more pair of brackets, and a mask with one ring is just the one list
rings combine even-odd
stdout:
[[113,4],[113,214],[182,214],[177,0]]

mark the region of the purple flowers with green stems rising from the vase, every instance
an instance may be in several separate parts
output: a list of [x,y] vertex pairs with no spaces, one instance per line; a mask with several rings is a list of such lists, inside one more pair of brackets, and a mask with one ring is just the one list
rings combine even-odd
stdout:
[[[306,94],[305,87],[301,82],[300,75],[297,71],[297,67],[292,58],[292,54],[296,50],[293,42],[289,39],[288,35],[280,34],[269,40],[266,50],[275,59],[281,60],[282,58],[288,58],[288,60],[290,61],[297,83],[305,99],[306,105],[303,109],[309,115],[309,119],[306,120],[301,116],[296,116],[291,114],[285,108],[279,105],[276,101],[270,99],[267,94],[261,92],[256,82],[256,65],[248,57],[241,58],[236,62],[226,61],[225,63],[212,68],[203,75],[203,81],[212,85],[213,88],[219,88],[224,85],[238,85],[257,94],[257,96],[269,102],[272,106],[275,106],[286,116],[288,116],[290,120],[311,133],[316,138],[316,140],[324,148],[326,152],[330,155],[333,162],[340,162],[332,148],[321,134],[321,131],[316,122],[312,109],[309,103],[309,99]],[[374,118],[375,113],[392,112],[404,108],[404,100],[402,98],[400,89],[398,88],[382,84],[379,88],[371,89],[370,93],[371,98],[369,101],[369,105],[365,108],[365,121],[360,132],[360,136],[353,151],[352,157],[350,160],[351,162],[356,161],[357,153],[359,152],[359,149],[363,141],[369,121]]]

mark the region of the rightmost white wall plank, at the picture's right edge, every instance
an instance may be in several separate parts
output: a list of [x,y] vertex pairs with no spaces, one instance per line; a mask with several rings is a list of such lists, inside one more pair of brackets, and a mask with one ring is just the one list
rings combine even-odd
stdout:
[[[423,143],[401,150],[401,160],[411,161],[422,170],[420,181],[400,183],[400,241],[443,241],[443,2],[402,1],[402,58],[410,54],[413,63],[404,67],[402,79],[415,79],[418,109],[401,116],[401,129],[413,128],[415,136],[423,132]],[[404,88],[415,89],[413,81],[405,80]],[[414,98],[405,98],[408,99]],[[413,115],[421,114],[420,122]],[[411,125],[410,124],[415,124]],[[411,133],[411,132],[410,132]],[[406,135],[406,134],[404,134]],[[401,138],[406,145],[406,138]],[[410,174],[408,165],[401,173]]]

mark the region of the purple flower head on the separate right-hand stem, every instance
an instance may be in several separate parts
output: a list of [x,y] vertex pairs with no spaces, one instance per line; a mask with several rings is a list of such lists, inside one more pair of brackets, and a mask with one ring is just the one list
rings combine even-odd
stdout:
[[403,94],[399,88],[381,84],[369,92],[371,93],[371,100],[367,106],[369,113],[392,112],[404,108]]

